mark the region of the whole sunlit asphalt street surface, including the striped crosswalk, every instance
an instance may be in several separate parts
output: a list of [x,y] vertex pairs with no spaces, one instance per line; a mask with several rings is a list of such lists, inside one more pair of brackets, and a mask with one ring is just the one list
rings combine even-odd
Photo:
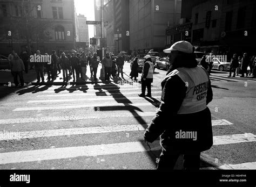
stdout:
[[[129,63],[124,72],[109,84],[0,87],[0,169],[156,169],[159,141],[150,150],[143,133],[166,71],[156,69],[153,98],[138,97]],[[201,169],[256,169],[256,82],[227,75],[211,75],[214,145]]]

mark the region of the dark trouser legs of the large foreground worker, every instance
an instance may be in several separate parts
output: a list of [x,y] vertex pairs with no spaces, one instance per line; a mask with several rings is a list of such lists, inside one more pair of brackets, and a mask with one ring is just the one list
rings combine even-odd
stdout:
[[[179,151],[162,150],[159,160],[157,170],[172,170],[177,162],[178,157],[181,155]],[[200,152],[191,152],[189,154],[184,154],[184,169],[185,170],[199,170],[200,168]]]

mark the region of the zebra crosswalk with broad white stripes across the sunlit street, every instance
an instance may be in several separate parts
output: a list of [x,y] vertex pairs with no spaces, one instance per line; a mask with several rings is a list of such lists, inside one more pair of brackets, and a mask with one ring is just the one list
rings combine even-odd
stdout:
[[[0,169],[156,169],[159,140],[149,148],[143,134],[160,104],[161,88],[152,87],[152,98],[138,97],[140,89],[98,83],[10,96],[1,102],[9,112],[0,118]],[[15,105],[14,97],[27,99]],[[212,119],[212,149],[255,145],[252,133],[218,134],[234,125]],[[218,169],[256,169],[255,160],[223,163]]]

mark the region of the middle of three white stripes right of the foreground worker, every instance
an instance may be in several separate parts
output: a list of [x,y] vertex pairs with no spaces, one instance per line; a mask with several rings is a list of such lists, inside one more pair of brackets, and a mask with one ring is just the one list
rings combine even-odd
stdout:
[[231,143],[245,143],[256,141],[252,133],[213,136],[213,145],[226,145]]

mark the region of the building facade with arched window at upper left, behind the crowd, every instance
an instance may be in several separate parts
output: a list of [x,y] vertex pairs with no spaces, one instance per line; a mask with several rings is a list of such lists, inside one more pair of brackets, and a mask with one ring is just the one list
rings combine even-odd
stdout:
[[73,0],[1,0],[0,5],[1,54],[12,49],[18,53],[35,53],[37,49],[51,53],[75,47]]

